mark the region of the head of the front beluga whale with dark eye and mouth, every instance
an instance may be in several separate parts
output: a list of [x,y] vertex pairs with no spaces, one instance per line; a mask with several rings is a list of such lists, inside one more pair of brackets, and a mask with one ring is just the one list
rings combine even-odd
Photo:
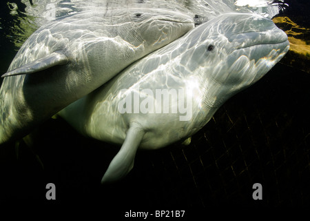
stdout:
[[289,50],[285,32],[256,14],[220,15],[189,35],[189,56],[183,60],[189,70],[199,73],[209,108],[218,108],[254,84]]

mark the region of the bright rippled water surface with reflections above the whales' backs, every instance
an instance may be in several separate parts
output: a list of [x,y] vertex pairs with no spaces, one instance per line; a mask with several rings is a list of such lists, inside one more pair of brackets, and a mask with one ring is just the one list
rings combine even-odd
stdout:
[[[241,4],[235,5],[235,1],[214,1],[214,0],[198,0],[198,1],[116,1],[116,0],[21,0],[21,3],[8,3],[10,15],[14,20],[10,28],[10,35],[7,35],[14,41],[17,48],[27,39],[36,28],[43,26],[59,17],[68,16],[84,10],[92,10],[98,8],[167,8],[179,10],[181,12],[192,13],[198,23],[203,23],[209,19],[216,17],[223,12],[249,12],[255,11],[265,17],[273,17],[278,14],[278,6],[264,5],[251,7]],[[1,22],[1,21],[0,21]],[[1,23],[0,23],[1,26]]]

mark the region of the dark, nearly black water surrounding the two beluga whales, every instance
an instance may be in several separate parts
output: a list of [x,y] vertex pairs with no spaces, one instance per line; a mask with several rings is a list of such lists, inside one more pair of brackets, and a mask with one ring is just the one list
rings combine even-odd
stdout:
[[[25,11],[34,2],[12,2],[1,1],[1,73],[38,23],[84,7],[63,1],[66,7],[54,13],[45,4],[43,19],[36,20]],[[139,151],[124,180],[102,186],[118,147],[50,119],[34,140],[43,166],[23,142],[18,157],[16,144],[1,146],[0,202],[100,203],[121,215],[134,208],[309,206],[309,2],[285,3],[273,21],[291,37],[291,50],[260,81],[229,99],[191,144]],[[48,183],[56,186],[56,200],[45,198]],[[262,200],[252,198],[255,183],[262,184]]]

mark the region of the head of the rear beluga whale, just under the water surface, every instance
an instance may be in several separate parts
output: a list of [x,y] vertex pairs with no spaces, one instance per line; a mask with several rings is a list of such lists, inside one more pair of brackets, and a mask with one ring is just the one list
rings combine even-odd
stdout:
[[161,48],[194,28],[194,18],[182,12],[158,8],[128,10],[147,46]]

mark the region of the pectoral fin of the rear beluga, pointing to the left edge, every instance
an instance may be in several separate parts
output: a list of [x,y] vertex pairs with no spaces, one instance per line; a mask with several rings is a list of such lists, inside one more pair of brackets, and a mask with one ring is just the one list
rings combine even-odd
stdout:
[[65,54],[63,54],[63,52],[56,51],[50,55],[47,55],[40,59],[36,59],[28,64],[20,66],[19,68],[11,70],[10,72],[5,73],[1,77],[9,77],[14,75],[28,75],[32,73],[37,73],[41,70],[45,70],[53,66],[67,64],[68,61],[69,61],[68,57]]

